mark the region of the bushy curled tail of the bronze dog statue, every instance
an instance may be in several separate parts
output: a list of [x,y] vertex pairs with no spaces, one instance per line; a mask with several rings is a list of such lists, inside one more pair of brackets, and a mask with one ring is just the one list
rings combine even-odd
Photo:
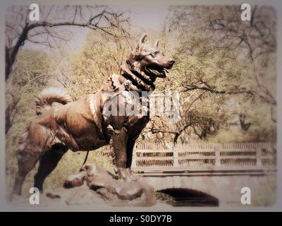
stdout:
[[37,96],[36,100],[36,114],[42,114],[47,109],[52,107],[53,102],[59,102],[66,105],[69,102],[73,102],[73,98],[65,91],[59,88],[46,88]]

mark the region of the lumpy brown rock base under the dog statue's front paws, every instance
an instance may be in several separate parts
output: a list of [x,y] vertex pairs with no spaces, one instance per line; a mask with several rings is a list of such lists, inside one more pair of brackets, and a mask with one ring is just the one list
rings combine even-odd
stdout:
[[152,186],[139,180],[118,180],[116,175],[95,164],[85,164],[82,171],[68,176],[63,186],[65,189],[48,192],[47,197],[63,198],[68,205],[101,201],[111,206],[152,206],[156,203]]

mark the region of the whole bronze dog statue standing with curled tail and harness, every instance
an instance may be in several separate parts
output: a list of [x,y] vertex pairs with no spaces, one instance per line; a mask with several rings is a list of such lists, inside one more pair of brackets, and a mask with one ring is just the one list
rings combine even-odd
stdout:
[[[166,78],[167,69],[171,69],[174,61],[159,51],[158,41],[152,44],[146,38],[147,35],[142,36],[136,49],[121,66],[121,74],[108,78],[96,93],[73,102],[71,96],[60,90],[42,91],[36,100],[38,117],[27,126],[20,139],[18,174],[12,195],[21,194],[25,177],[38,160],[34,186],[42,191],[44,179],[68,149],[88,151],[109,143],[116,155],[119,179],[135,179],[130,171],[133,147],[149,121],[149,114],[111,115],[106,114],[105,107],[114,96],[121,95],[125,97],[125,102],[117,102],[116,105],[125,107],[123,105],[131,101],[130,96],[135,95],[133,91],[139,94],[152,91],[157,77]],[[53,102],[63,105],[51,107]]]

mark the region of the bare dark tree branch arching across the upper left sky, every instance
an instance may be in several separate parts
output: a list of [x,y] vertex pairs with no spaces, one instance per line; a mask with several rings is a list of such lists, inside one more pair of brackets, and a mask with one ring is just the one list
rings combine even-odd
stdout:
[[[22,29],[18,30],[17,26],[15,27],[13,25],[10,25],[9,23],[6,23],[6,28],[9,28],[10,30],[13,30],[13,32],[16,32],[16,36],[8,37],[9,44],[6,44],[6,81],[11,74],[12,66],[16,61],[18,51],[20,47],[25,44],[25,40],[29,40],[30,42],[37,44],[40,44],[40,42],[42,44],[47,44],[48,41],[42,42],[41,40],[37,41],[31,39],[31,37],[45,34],[47,35],[47,39],[49,35],[54,40],[56,46],[59,48],[59,45],[56,43],[56,39],[59,38],[63,40],[63,37],[57,36],[56,32],[50,31],[48,28],[76,26],[82,28],[90,28],[92,30],[101,30],[102,32],[105,32],[108,35],[115,35],[113,32],[110,31],[110,28],[122,29],[125,32],[125,30],[121,26],[121,23],[127,21],[127,19],[123,19],[123,12],[115,13],[111,11],[108,7],[104,7],[104,9],[98,13],[96,11],[99,8],[102,8],[102,6],[74,6],[73,8],[71,8],[74,11],[73,16],[71,16],[71,18],[66,18],[66,21],[60,21],[61,19],[59,20],[59,18],[57,18],[58,20],[56,22],[51,22],[51,20],[48,21],[48,18],[51,17],[51,14],[54,10],[54,6],[51,6],[49,8],[49,11],[47,11],[47,15],[44,21],[30,23],[28,21],[29,10],[24,11],[23,7],[20,7],[18,8],[18,11],[16,11],[16,8],[12,7],[11,11],[16,14],[17,23]],[[88,14],[87,19],[84,16],[84,9],[87,9],[89,11],[89,13],[86,13]],[[94,13],[96,14],[93,15]],[[78,14],[80,15],[80,18],[78,18]],[[40,28],[40,30],[37,31],[36,28]],[[11,41],[12,38],[17,38],[16,44],[12,44],[14,43]],[[51,47],[51,44],[49,44],[49,46]]]

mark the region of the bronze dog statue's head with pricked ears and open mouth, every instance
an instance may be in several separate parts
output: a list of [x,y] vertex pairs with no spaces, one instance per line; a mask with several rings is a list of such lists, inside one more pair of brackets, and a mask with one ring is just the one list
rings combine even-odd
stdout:
[[165,57],[158,46],[158,40],[153,44],[147,42],[146,34],[142,35],[136,49],[126,61],[130,71],[137,72],[142,78],[153,83],[156,78],[167,78],[168,70],[175,61]]

